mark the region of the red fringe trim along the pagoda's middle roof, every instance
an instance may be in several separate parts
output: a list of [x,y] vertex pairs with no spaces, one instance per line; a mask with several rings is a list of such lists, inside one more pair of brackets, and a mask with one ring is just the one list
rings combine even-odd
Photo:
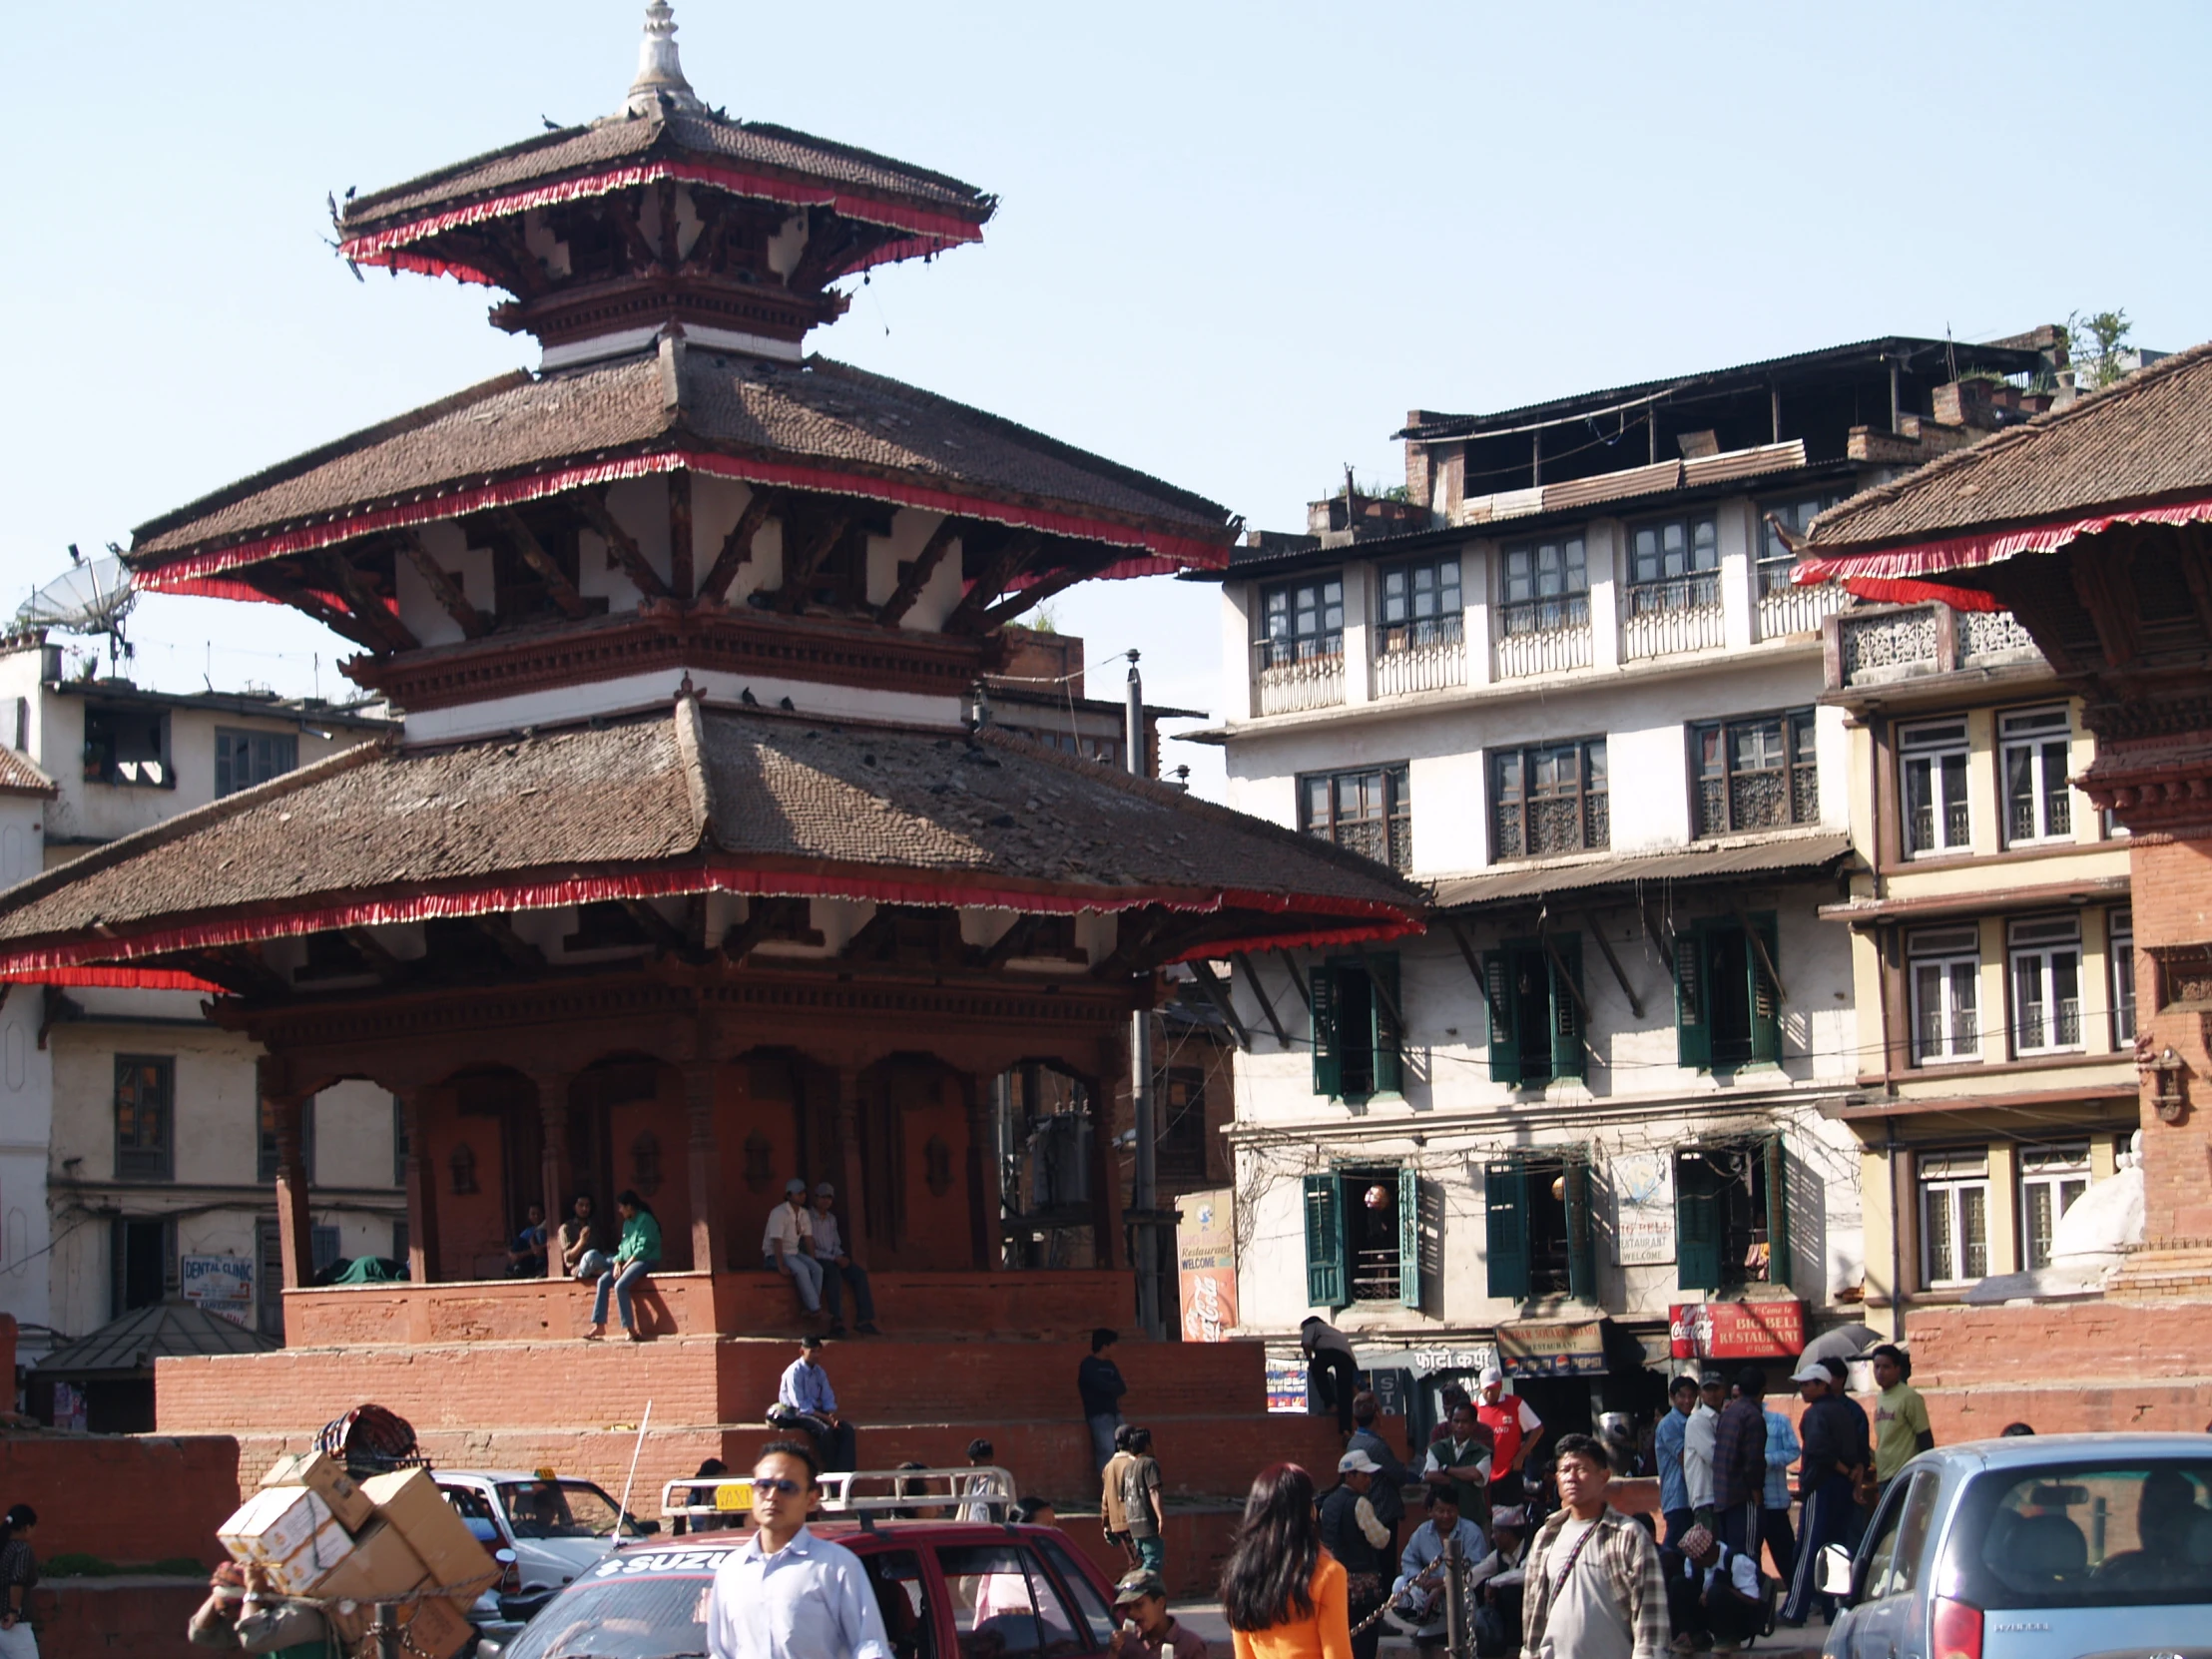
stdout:
[[493,484],[478,484],[473,489],[451,489],[447,493],[427,493],[403,507],[374,507],[356,513],[343,513],[323,518],[314,524],[294,531],[279,531],[274,535],[263,535],[252,542],[237,542],[232,546],[212,549],[208,553],[188,553],[186,557],[170,560],[150,571],[137,575],[142,588],[153,588],[155,593],[204,593],[212,597],[239,597],[234,591],[217,591],[206,586],[206,577],[223,575],[226,571],[239,571],[248,564],[259,564],[261,560],[283,557],[288,553],[310,553],[323,546],[336,546],[338,542],[349,542],[356,535],[369,535],[372,531],[389,531],[407,524],[434,524],[447,518],[460,518],[465,513],[480,513],[487,507],[511,507],[515,502],[535,502],[546,495],[560,495],[571,489],[586,489],[591,484],[608,484],[617,478],[650,478],[655,473],[668,471],[697,471],[712,478],[737,478],[748,484],[787,484],[794,489],[821,489],[832,495],[865,495],[869,500],[889,500],[900,507],[925,507],[938,513],[960,513],[962,518],[982,518],[993,524],[1011,524],[1024,531],[1046,531],[1053,535],[1073,535],[1086,542],[1106,542],[1110,546],[1137,546],[1144,553],[1119,560],[1110,564],[1099,575],[1124,577],[1124,575],[1172,575],[1177,571],[1199,566],[1208,571],[1228,568],[1230,549],[1214,542],[1201,542],[1194,535],[1170,535],[1166,531],[1139,531],[1128,524],[1115,524],[1110,520],[1086,518],[1082,513],[1055,511],[1048,507],[1009,507],[1002,502],[984,502],[975,495],[962,495],[956,489],[945,489],[936,484],[907,484],[885,478],[869,478],[865,473],[843,473],[830,467],[805,467],[785,460],[743,460],[737,456],[721,456],[712,451],[684,451],[664,449],[653,456],[624,456],[622,460],[597,460],[586,467],[562,467],[549,473],[529,473],[522,478],[504,478]]

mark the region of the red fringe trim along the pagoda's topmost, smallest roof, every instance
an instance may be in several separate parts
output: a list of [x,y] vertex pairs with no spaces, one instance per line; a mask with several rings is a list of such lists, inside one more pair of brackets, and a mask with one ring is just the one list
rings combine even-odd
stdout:
[[834,276],[849,276],[856,270],[883,265],[894,259],[933,254],[962,241],[982,241],[982,228],[956,212],[931,212],[927,208],[852,195],[834,186],[823,188],[794,184],[765,173],[745,173],[741,168],[714,166],[710,161],[644,161],[639,166],[613,168],[611,173],[586,173],[577,179],[540,184],[531,190],[513,190],[502,197],[471,201],[465,208],[447,208],[429,215],[427,219],[414,219],[411,223],[392,226],[389,230],[374,230],[365,237],[347,237],[338,243],[338,257],[349,259],[356,265],[394,265],[398,270],[418,270],[434,276],[458,276],[465,283],[482,283],[484,288],[502,288],[502,283],[480,270],[471,270],[469,265],[425,259],[422,254],[405,254],[400,250],[407,248],[407,243],[425,241],[462,226],[480,226],[487,219],[509,219],[531,208],[551,208],[562,201],[582,201],[584,197],[604,197],[615,190],[628,190],[639,184],[657,184],[661,179],[710,184],[717,190],[728,190],[730,195],[754,197],[759,201],[783,201],[794,208],[834,208],[845,219],[911,232],[902,241],[887,243],[876,248],[872,254],[863,254],[860,259],[841,265],[832,272]]

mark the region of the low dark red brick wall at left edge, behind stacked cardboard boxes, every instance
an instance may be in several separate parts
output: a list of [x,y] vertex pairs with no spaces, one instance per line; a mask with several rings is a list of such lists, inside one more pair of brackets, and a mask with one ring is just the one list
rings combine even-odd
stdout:
[[0,1502],[38,1511],[38,1553],[215,1566],[239,1506],[239,1447],[221,1436],[0,1436]]

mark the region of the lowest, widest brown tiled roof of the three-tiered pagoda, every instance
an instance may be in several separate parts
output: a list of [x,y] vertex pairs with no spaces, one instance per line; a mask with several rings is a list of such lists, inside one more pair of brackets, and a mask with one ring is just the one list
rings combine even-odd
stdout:
[[33,945],[119,960],[208,918],[237,920],[230,938],[296,933],[301,916],[425,894],[420,914],[575,902],[553,887],[637,872],[670,876],[653,891],[1035,898],[1040,911],[1389,922],[1420,905],[1365,858],[1022,737],[679,701],[593,728],[345,750],[0,896],[0,962],[22,967]]

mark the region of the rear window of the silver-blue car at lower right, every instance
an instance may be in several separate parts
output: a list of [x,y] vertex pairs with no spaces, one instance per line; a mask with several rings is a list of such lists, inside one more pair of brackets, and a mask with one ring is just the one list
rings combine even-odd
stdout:
[[2212,1455],[1993,1469],[1964,1493],[1947,1579],[1993,1610],[2212,1601]]

